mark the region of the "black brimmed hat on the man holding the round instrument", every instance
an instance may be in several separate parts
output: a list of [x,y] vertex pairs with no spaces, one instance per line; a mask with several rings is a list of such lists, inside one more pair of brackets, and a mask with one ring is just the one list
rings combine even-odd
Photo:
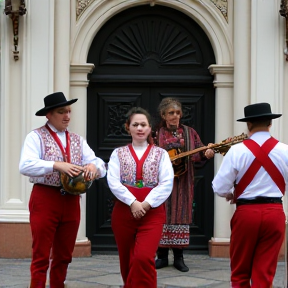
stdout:
[[45,107],[35,113],[36,116],[45,116],[47,112],[54,108],[64,107],[75,103],[78,99],[66,99],[62,92],[55,92],[44,98]]

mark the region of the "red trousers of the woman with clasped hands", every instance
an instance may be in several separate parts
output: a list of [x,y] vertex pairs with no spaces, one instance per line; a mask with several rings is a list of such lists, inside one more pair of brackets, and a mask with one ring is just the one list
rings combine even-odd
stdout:
[[165,215],[162,204],[136,220],[129,206],[116,201],[111,220],[125,288],[157,288],[155,255]]

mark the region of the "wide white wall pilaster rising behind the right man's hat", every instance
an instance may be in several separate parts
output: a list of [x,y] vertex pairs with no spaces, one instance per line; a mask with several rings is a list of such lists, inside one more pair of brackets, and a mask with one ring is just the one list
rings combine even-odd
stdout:
[[[287,78],[284,78],[283,55],[285,34],[279,8],[280,1],[251,1],[250,97],[251,103],[268,102],[272,112],[285,113],[285,96],[282,94],[282,87],[287,82]],[[271,134],[280,140],[285,131],[283,123],[283,118],[272,121],[270,130]]]

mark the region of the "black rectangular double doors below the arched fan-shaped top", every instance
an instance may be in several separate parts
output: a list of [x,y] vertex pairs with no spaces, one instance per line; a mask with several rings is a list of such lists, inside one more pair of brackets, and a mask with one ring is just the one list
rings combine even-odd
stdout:
[[[133,106],[146,108],[157,123],[157,107],[165,97],[175,97],[183,105],[182,123],[189,125],[199,133],[203,143],[214,141],[214,93],[212,88],[201,87],[165,87],[155,85],[127,87],[102,87],[91,85],[88,93],[88,142],[96,155],[105,162],[109,161],[114,148],[131,142],[131,137],[124,128],[125,114]],[[210,107],[211,106],[211,107]],[[207,120],[212,124],[205,125]],[[207,129],[206,129],[207,128]],[[197,170],[195,180],[194,221],[191,225],[190,248],[207,248],[212,236],[209,217],[213,215],[213,160]],[[212,175],[212,176],[211,176]],[[91,206],[95,206],[92,209]],[[111,231],[111,212],[113,195],[106,179],[96,181],[87,193],[87,231],[92,247],[116,249]],[[191,207],[192,209],[192,207]],[[193,235],[193,236],[192,236]]]

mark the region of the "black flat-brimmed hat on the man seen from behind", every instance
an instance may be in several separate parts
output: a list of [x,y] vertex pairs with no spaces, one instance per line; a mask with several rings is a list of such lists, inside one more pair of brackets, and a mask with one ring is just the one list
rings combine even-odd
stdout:
[[282,114],[273,114],[269,103],[256,103],[248,105],[244,108],[245,118],[238,119],[240,122],[250,122],[257,119],[275,119],[282,116]]

